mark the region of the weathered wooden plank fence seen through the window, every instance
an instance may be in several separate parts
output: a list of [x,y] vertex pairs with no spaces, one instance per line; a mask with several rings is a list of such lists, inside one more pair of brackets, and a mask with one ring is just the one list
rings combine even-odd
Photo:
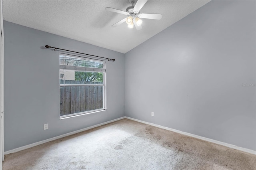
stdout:
[[[66,80],[66,84],[102,84]],[[64,80],[60,80],[64,84]],[[102,86],[60,86],[60,116],[103,108]]]

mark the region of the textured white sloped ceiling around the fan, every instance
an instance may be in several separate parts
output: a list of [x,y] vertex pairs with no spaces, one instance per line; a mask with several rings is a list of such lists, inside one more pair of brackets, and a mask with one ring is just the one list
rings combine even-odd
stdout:
[[123,14],[128,0],[4,0],[4,20],[126,53],[168,26],[200,8],[209,0],[148,0],[141,13],[162,14],[161,20],[142,19],[142,30],[127,28]]

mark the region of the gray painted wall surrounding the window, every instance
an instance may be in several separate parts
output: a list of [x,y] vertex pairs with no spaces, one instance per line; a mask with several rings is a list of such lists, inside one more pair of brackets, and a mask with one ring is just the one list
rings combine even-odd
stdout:
[[[5,151],[124,116],[124,54],[6,21],[4,37]],[[46,44],[116,59],[107,61],[107,111],[60,120],[59,53]]]

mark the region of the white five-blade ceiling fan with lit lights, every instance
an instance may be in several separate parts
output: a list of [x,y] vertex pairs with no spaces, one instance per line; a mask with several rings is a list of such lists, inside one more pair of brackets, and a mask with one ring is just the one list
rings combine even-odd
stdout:
[[117,22],[116,24],[112,25],[112,27],[116,27],[120,24],[122,24],[123,22],[126,22],[128,24],[128,28],[133,28],[133,26],[135,25],[137,30],[141,30],[142,29],[142,20],[140,18],[146,18],[146,19],[153,19],[153,20],[160,20],[162,18],[162,14],[142,14],[140,13],[140,9],[144,6],[144,4],[147,2],[148,0],[138,0],[134,6],[134,0],[129,0],[129,2],[132,3],[132,6],[129,6],[128,8],[126,8],[126,11],[122,11],[122,10],[117,10],[114,8],[110,8],[107,7],[105,8],[107,11],[111,11],[111,12],[117,12],[120,14],[124,14],[127,15],[127,18],[124,18],[122,20],[120,20],[119,22]]

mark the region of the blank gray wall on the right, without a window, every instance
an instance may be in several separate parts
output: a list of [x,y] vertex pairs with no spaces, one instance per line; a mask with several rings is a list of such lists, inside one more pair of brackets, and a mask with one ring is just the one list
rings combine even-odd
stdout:
[[256,150],[255,11],[212,1],[126,53],[125,115]]

